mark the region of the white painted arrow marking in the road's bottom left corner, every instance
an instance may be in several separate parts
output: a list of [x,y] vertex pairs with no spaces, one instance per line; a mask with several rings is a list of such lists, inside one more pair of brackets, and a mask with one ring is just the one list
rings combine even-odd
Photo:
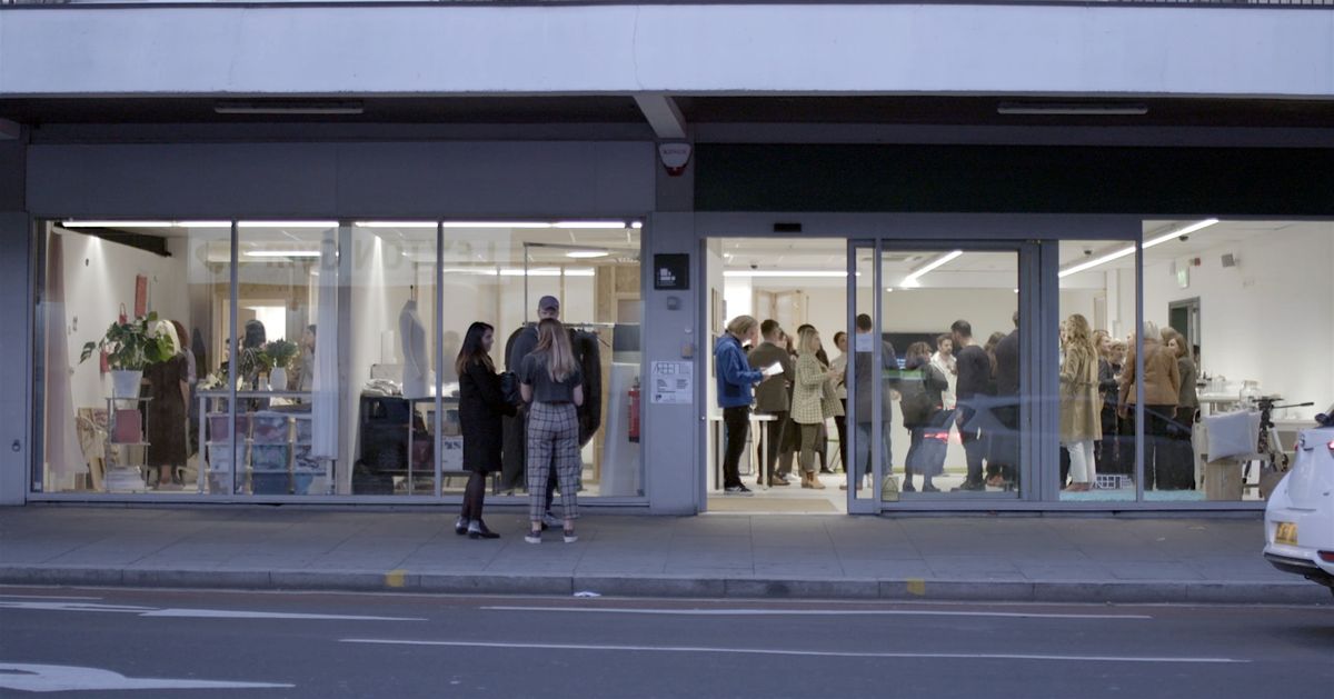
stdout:
[[289,690],[295,684],[207,679],[127,678],[97,667],[0,663],[0,688],[28,692],[111,690]]

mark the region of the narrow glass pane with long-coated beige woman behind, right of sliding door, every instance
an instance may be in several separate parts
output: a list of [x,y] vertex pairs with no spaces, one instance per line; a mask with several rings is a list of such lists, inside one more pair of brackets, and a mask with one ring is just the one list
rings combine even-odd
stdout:
[[1135,327],[1134,243],[1066,240],[1061,271],[1062,502],[1135,499],[1134,414],[1118,415]]

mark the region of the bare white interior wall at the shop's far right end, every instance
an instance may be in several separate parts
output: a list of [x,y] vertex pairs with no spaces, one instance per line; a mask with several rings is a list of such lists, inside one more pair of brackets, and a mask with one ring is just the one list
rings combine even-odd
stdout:
[[[1145,319],[1163,327],[1170,301],[1198,296],[1205,372],[1315,402],[1302,415],[1327,408],[1334,403],[1334,224],[1322,228],[1201,252],[1185,289],[1171,261],[1145,267]],[[1235,255],[1238,267],[1225,268],[1223,252]],[[1133,284],[1122,284],[1121,303],[1133,317]]]

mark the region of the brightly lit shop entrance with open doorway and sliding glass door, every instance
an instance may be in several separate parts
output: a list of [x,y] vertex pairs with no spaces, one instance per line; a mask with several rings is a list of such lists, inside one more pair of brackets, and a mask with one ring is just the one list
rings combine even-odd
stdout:
[[[878,512],[1029,498],[1023,426],[1033,416],[1022,396],[1033,388],[1019,301],[1035,257],[1025,243],[708,239],[708,347],[752,316],[762,336],[744,347],[748,364],[782,358],[786,371],[755,386],[746,428],[732,427],[744,448],[728,454],[719,370],[707,359],[707,510]],[[806,354],[815,362],[803,363]],[[812,408],[811,382],[831,400]],[[744,491],[728,488],[728,458]]]

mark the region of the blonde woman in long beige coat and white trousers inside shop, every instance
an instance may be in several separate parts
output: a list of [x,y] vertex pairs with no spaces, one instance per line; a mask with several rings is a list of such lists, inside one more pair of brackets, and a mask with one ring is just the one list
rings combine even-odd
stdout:
[[1061,366],[1061,444],[1070,452],[1067,491],[1089,491],[1097,482],[1093,444],[1102,439],[1101,412],[1098,351],[1089,320],[1075,313],[1066,320],[1066,362]]

